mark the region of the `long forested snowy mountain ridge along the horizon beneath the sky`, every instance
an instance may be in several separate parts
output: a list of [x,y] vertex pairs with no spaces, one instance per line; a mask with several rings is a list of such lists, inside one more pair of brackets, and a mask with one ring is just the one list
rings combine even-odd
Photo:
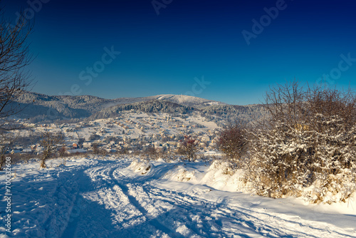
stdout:
[[45,95],[27,92],[15,102],[23,108],[16,114],[32,122],[63,118],[108,118],[125,110],[140,110],[147,113],[191,113],[214,120],[251,121],[261,118],[265,110],[261,105],[229,105],[215,100],[190,95],[162,94],[140,98],[105,99],[92,95]]

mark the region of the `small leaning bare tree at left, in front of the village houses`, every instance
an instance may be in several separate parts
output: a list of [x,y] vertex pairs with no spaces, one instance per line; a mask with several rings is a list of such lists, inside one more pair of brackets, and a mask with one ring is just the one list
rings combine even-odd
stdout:
[[43,147],[43,154],[40,167],[46,167],[46,160],[54,154],[58,146],[64,143],[64,139],[65,135],[62,132],[46,131],[41,133],[40,145]]

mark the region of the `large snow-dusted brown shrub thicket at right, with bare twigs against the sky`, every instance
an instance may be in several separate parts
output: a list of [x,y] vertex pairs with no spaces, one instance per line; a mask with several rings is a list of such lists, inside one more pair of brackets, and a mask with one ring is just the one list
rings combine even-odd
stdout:
[[345,201],[356,191],[356,96],[350,90],[272,88],[270,118],[251,131],[247,179],[259,195]]

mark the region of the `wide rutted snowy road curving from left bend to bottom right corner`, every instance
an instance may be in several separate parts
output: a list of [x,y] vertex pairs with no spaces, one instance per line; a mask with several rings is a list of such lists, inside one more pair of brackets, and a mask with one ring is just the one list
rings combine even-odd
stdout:
[[206,200],[213,192],[206,186],[192,192],[179,191],[174,183],[172,189],[157,186],[174,165],[134,177],[126,176],[132,175],[128,165],[103,162],[85,170],[80,200],[88,201],[87,209],[68,224],[63,237],[352,237],[352,229],[227,203],[220,195],[218,201],[214,196]]

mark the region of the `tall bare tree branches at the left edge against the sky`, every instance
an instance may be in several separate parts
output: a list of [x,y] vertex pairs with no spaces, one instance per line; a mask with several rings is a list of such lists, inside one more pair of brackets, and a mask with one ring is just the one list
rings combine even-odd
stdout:
[[13,26],[6,21],[0,6],[0,128],[7,130],[11,128],[4,127],[4,120],[23,109],[14,99],[25,93],[32,82],[25,68],[33,59],[26,43],[33,24],[26,21],[22,12],[21,16]]

